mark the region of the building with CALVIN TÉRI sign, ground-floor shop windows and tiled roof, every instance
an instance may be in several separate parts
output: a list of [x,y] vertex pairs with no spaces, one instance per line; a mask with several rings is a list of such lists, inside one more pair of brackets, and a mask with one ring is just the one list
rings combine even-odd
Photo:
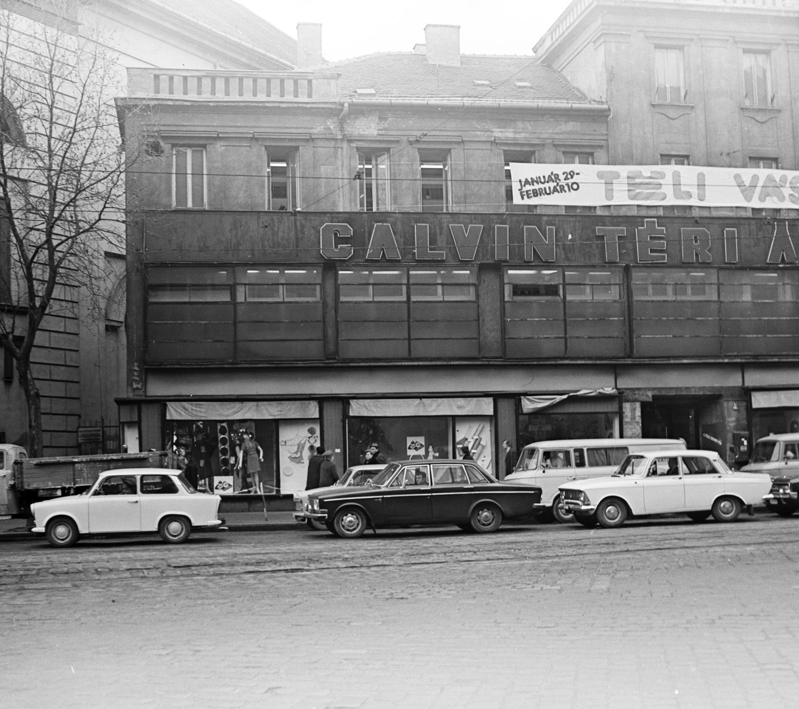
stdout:
[[795,215],[515,206],[510,162],[610,161],[613,105],[425,31],[303,72],[129,71],[125,133],[152,145],[128,178],[129,450],[183,446],[238,491],[250,430],[287,493],[320,442],[501,473],[506,439],[734,458],[790,426],[750,406],[799,384]]

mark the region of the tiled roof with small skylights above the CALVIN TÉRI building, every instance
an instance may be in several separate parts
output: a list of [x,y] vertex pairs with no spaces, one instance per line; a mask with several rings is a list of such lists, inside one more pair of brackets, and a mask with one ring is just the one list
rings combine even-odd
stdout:
[[[466,54],[460,66],[435,65],[423,54],[368,54],[329,66],[341,72],[341,95],[375,89],[378,98],[479,98],[490,101],[569,101],[587,103],[585,95],[560,73],[535,57]],[[490,86],[475,85],[490,81]],[[519,88],[527,81],[530,88]]]

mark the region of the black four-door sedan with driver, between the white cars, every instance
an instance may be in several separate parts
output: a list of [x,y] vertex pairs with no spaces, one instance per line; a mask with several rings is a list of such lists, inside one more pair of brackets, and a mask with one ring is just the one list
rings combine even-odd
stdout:
[[348,538],[368,528],[406,525],[495,532],[503,519],[540,512],[540,502],[541,488],[498,482],[471,461],[401,461],[367,485],[311,493],[305,516]]

